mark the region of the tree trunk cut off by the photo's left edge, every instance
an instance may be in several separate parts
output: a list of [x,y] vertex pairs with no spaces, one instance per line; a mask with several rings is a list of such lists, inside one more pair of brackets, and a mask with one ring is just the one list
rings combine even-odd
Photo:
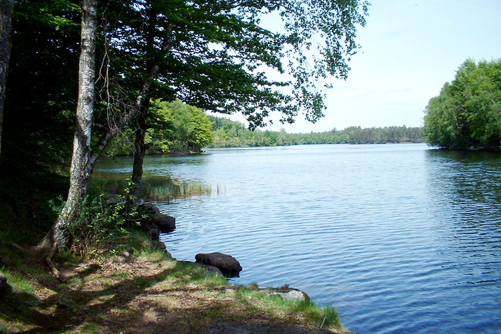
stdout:
[[12,9],[14,0],[0,0],[0,154],[2,154],[2,120],[7,70],[11,57]]

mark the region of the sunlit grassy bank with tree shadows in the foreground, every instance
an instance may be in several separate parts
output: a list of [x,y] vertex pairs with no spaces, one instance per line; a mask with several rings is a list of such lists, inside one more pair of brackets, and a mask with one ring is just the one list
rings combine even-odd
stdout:
[[342,328],[332,307],[285,300],[257,283],[231,285],[195,263],[167,257],[144,231],[130,230],[117,245],[130,255],[105,252],[98,262],[82,263],[61,252],[56,260],[70,275],[65,283],[58,283],[43,262],[1,246],[11,264],[0,271],[14,292],[0,303],[0,332],[197,332],[221,321],[236,328],[254,324],[257,332],[263,323],[273,324],[288,332],[296,325],[318,328],[324,317],[324,327]]

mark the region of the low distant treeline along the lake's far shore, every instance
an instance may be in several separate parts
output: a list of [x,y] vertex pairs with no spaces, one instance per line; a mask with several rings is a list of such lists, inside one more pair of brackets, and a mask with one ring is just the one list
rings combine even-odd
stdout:
[[349,127],[344,130],[291,134],[281,131],[250,131],[242,123],[209,116],[214,139],[208,147],[281,146],[305,144],[421,143],[423,128],[391,126],[384,128]]

